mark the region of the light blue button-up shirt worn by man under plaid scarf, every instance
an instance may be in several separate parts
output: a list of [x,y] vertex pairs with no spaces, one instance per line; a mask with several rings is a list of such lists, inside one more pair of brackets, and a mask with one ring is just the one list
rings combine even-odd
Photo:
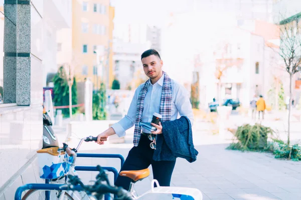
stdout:
[[[143,111],[141,116],[142,122],[152,121],[154,112],[159,113],[160,110],[160,100],[162,93],[164,75],[155,83],[152,84],[149,81],[147,93],[144,98]],[[140,93],[140,90],[143,87],[143,84],[140,84],[135,90],[135,94],[130,103],[127,114],[117,123],[114,123],[111,127],[114,129],[116,134],[121,137],[125,135],[125,130],[132,127],[135,124],[136,120],[136,111],[137,111],[137,99]],[[192,106],[189,99],[189,93],[187,89],[175,82],[172,79],[173,87],[173,100],[172,100],[172,113],[171,120],[179,118],[179,116],[187,116],[190,119],[191,125],[193,125],[193,112]],[[143,132],[149,132],[148,130],[142,128]]]

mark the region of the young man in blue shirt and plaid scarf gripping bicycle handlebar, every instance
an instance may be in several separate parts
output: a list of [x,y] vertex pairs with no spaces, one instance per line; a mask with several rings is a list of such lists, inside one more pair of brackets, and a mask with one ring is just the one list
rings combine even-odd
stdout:
[[[157,50],[149,49],[141,54],[144,73],[149,79],[138,86],[127,114],[110,128],[100,133],[97,143],[103,144],[100,137],[108,137],[117,134],[119,137],[125,135],[125,130],[135,124],[134,146],[129,151],[121,170],[140,170],[147,168],[150,164],[153,168],[154,178],[162,186],[170,186],[172,173],[176,160],[153,159],[155,149],[150,147],[152,140],[148,133],[162,134],[162,123],[152,123],[156,131],[148,131],[141,128],[139,122],[151,122],[155,112],[163,115],[162,121],[176,120],[178,113],[186,116],[193,124],[193,112],[188,91],[179,83],[172,80],[168,74],[162,71],[163,61]],[[179,71],[181,73],[181,71]],[[130,179],[118,175],[115,185],[122,186],[128,190]]]

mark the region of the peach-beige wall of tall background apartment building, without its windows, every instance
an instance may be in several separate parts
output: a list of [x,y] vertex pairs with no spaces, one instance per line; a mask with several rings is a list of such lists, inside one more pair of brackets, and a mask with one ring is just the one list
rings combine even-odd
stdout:
[[[94,45],[103,45],[108,47],[109,39],[112,38],[112,19],[114,10],[109,6],[109,0],[84,0],[88,2],[88,10],[82,10],[83,0],[73,0],[72,2],[72,62],[75,66],[75,74],[78,81],[82,81],[85,77],[90,77],[92,81],[93,66],[96,65],[96,54],[93,53]],[[99,3],[106,6],[106,13],[93,11],[93,4]],[[88,23],[88,32],[82,32],[82,23]],[[105,34],[93,33],[93,24],[105,26]],[[87,53],[83,53],[83,44],[87,44]],[[104,64],[106,64],[107,53],[104,54]],[[112,56],[109,56],[111,63]],[[88,66],[88,75],[82,75],[83,65]],[[110,73],[112,71],[110,70]],[[106,77],[106,76],[105,76]],[[99,74],[99,82],[101,74]],[[94,81],[94,84],[96,81]]]

